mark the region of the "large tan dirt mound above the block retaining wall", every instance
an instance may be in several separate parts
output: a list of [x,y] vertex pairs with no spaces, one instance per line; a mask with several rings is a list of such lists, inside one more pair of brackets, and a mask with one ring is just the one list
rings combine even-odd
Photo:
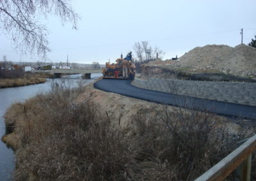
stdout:
[[241,44],[236,47],[227,45],[206,45],[196,47],[172,64],[173,68],[190,67],[212,69],[223,73],[256,78],[256,48]]

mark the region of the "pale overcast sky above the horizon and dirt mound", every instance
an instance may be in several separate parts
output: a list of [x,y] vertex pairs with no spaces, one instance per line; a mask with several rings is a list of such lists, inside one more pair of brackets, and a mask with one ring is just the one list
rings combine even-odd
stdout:
[[[77,31],[59,18],[47,20],[52,62],[104,64],[133,51],[138,41],[166,52],[170,59],[205,45],[248,44],[256,34],[255,0],[77,0],[73,3],[81,20]],[[10,38],[0,33],[0,61],[40,61],[37,56],[19,55]]]

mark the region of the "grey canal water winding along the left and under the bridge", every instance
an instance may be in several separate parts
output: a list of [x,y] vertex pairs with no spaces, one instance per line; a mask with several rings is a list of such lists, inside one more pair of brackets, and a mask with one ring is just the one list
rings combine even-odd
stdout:
[[[99,78],[101,73],[92,73],[91,79],[82,79],[81,75],[67,75],[62,78],[47,79],[47,82],[23,87],[10,87],[0,89],[0,138],[5,134],[3,115],[7,108],[13,103],[23,102],[38,93],[46,93],[51,90],[52,83],[65,84],[76,87],[79,83],[93,82]],[[8,148],[0,140],[0,180],[12,180],[13,169],[15,168],[15,155],[11,148]]]

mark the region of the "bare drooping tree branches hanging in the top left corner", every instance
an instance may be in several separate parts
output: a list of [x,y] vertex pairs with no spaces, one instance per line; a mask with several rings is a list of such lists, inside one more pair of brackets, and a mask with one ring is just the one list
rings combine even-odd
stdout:
[[22,53],[36,50],[38,55],[47,57],[50,51],[47,29],[39,23],[49,14],[56,15],[61,21],[72,22],[76,29],[77,13],[72,9],[70,0],[2,0],[0,1],[0,29],[12,38],[13,44]]

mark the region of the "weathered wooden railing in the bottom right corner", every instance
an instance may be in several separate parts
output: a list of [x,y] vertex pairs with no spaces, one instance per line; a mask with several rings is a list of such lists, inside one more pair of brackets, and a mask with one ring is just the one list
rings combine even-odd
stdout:
[[247,181],[251,176],[252,153],[256,150],[256,134],[249,138],[243,145],[236,148],[227,157],[214,165],[210,170],[196,178],[203,180],[224,180],[236,169],[236,180]]

